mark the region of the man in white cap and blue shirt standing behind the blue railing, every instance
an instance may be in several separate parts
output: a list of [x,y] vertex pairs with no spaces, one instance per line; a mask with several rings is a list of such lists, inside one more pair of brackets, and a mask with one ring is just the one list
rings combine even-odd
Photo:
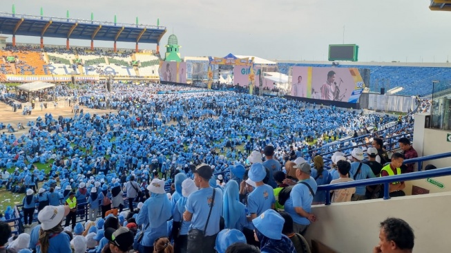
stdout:
[[[354,180],[361,180],[366,178],[375,178],[374,173],[370,166],[365,165],[363,162],[363,150],[359,148],[355,148],[351,152],[352,160],[354,162],[351,163],[351,170],[349,171],[349,178]],[[365,196],[366,187],[358,186],[356,187],[356,193],[352,196],[352,201],[365,200],[367,199]]]

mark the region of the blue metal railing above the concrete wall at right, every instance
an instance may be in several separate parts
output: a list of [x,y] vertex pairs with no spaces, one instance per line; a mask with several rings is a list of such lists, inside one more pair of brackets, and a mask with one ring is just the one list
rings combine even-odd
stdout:
[[[437,155],[432,156],[423,156],[421,158],[414,158],[405,160],[404,163],[412,163],[412,162],[418,162],[422,165],[422,162],[425,160],[434,160],[439,158],[448,158],[451,157],[451,152],[449,153],[440,153]],[[419,167],[420,168],[420,167]],[[451,167],[446,167],[442,169],[432,169],[430,171],[417,171],[412,172],[408,174],[401,174],[396,176],[384,176],[381,178],[368,178],[363,180],[356,180],[352,182],[340,182],[338,184],[332,184],[332,185],[320,185],[318,186],[317,191],[326,191],[330,192],[334,189],[345,189],[349,187],[358,187],[358,186],[367,186],[367,185],[384,185],[384,199],[390,199],[390,192],[389,192],[389,184],[391,182],[401,182],[401,181],[408,181],[408,180],[416,180],[416,179],[423,179],[423,178],[434,178],[439,176],[449,176],[451,175]],[[330,205],[330,194],[326,194],[326,205]]]

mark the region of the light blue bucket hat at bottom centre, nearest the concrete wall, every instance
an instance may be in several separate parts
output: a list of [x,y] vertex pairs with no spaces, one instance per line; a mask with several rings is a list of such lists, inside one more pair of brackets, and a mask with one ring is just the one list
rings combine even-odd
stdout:
[[264,236],[280,240],[285,219],[273,209],[267,209],[263,214],[252,220],[253,225]]

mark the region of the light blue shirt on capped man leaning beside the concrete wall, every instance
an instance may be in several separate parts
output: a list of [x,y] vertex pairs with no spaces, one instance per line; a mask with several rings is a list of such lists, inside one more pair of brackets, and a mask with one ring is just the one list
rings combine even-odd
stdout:
[[[316,189],[318,185],[316,185],[316,181],[314,178],[310,177],[309,179],[300,181],[307,182],[310,185],[311,189],[313,189],[314,193],[316,193]],[[309,219],[300,216],[294,210],[294,207],[301,207],[305,212],[311,212],[311,202],[313,201],[313,197],[307,185],[301,184],[298,182],[293,189],[291,189],[291,193],[289,194],[289,198],[285,202],[285,212],[287,212],[295,223],[300,225],[309,225]]]

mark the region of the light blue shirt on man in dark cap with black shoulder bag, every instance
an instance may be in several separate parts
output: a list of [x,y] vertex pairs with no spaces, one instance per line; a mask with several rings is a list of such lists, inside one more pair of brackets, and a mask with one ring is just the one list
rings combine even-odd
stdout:
[[[222,191],[215,190],[215,200],[211,209],[211,216],[205,236],[212,236],[219,233],[219,221],[222,212]],[[193,192],[186,201],[186,211],[193,214],[189,229],[204,230],[210,212],[210,204],[213,198],[213,188],[202,188]]]

